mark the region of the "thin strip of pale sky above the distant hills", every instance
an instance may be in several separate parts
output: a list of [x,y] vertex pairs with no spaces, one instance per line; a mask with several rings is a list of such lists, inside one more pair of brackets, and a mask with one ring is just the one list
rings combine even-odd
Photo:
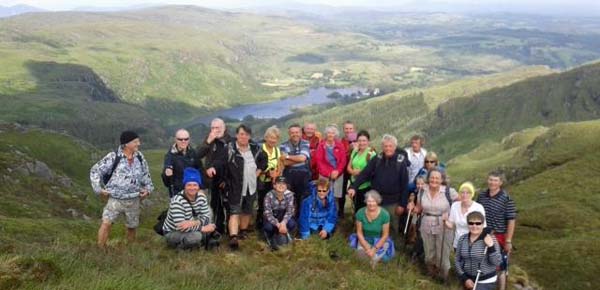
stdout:
[[600,15],[600,0],[0,0],[2,6],[27,4],[47,10],[69,10],[77,7],[123,7],[144,4],[193,4],[212,8],[243,8],[285,5],[290,3],[325,4],[330,6],[417,7],[418,9],[478,8],[510,12],[582,12]]

